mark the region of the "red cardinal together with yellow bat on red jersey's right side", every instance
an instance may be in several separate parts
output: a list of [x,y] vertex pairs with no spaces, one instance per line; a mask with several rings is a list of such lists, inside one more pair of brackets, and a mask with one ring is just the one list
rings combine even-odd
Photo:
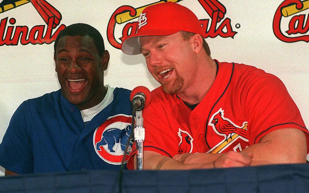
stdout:
[[223,140],[207,153],[221,153],[235,142],[236,145],[232,147],[232,150],[241,151],[241,141],[248,142],[248,122],[244,121],[242,126],[236,125],[232,120],[224,116],[224,110],[222,108],[212,115],[208,125],[212,126],[217,135],[223,136]]

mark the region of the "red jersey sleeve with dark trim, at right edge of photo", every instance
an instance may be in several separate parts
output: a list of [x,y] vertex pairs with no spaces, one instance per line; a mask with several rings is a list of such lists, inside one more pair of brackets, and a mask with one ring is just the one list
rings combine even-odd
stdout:
[[[252,144],[256,144],[266,134],[281,128],[297,128],[303,130],[307,137],[306,128],[298,107],[288,93],[283,82],[274,75],[254,79],[245,97],[243,106],[248,112],[248,129]],[[251,145],[252,145],[251,144]]]

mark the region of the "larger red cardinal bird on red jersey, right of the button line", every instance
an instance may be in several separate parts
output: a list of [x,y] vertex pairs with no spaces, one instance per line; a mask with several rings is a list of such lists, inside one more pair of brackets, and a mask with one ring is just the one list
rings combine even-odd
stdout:
[[213,120],[211,121],[212,124],[214,124],[214,127],[217,129],[219,133],[225,134],[227,141],[233,133],[236,133],[246,139],[248,139],[248,131],[244,130],[242,128],[235,127],[235,124],[233,122],[230,122],[228,120],[224,120],[222,118],[222,112],[219,111],[218,114],[214,115]]

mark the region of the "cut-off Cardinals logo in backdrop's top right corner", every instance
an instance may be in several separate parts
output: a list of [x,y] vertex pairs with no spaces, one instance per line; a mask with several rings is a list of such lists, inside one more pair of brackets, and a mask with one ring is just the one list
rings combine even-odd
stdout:
[[[285,0],[273,18],[273,32],[284,42],[309,42],[309,0]],[[299,14],[303,13],[303,14]],[[307,35],[304,35],[307,34]]]

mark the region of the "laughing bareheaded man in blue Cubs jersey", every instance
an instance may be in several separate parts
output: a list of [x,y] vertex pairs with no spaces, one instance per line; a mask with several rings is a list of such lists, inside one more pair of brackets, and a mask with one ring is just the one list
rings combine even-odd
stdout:
[[54,61],[61,89],[24,101],[0,144],[5,175],[118,170],[132,143],[130,90],[104,85],[109,53],[94,27],[59,33]]

